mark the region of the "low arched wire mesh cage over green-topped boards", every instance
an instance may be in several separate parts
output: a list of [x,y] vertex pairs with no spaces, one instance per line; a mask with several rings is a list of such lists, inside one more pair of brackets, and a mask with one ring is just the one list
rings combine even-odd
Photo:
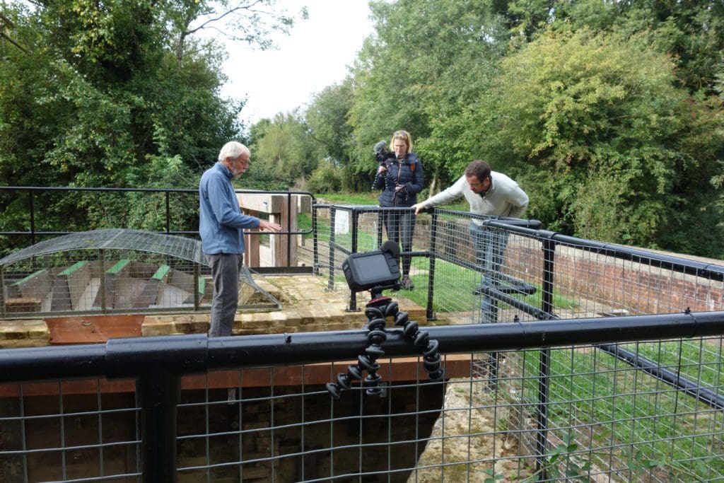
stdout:
[[[76,232],[0,259],[3,318],[208,310],[213,293],[201,242],[139,230]],[[251,272],[242,308],[279,308]]]

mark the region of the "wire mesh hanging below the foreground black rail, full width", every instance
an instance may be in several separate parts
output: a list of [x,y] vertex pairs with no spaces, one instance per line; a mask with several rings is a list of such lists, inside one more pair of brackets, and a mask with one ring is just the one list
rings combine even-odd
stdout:
[[[421,377],[420,358],[381,358],[382,395],[353,385],[339,400],[324,382],[344,362],[189,375],[174,417],[175,478],[724,479],[720,337],[615,347],[651,366],[641,370],[600,345],[501,351],[493,384],[476,354],[449,354],[442,364],[450,379],[435,383]],[[687,362],[692,351],[696,363]],[[687,379],[688,389],[655,374],[667,370]],[[111,384],[0,385],[2,481],[148,481],[138,385]],[[702,398],[707,391],[712,400]]]

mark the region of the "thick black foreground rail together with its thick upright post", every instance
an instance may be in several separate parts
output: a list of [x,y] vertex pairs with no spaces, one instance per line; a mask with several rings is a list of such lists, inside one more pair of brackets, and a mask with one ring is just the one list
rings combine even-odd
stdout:
[[[440,352],[500,352],[558,345],[691,338],[724,334],[724,312],[612,317],[547,322],[429,327]],[[387,329],[386,356],[415,356],[403,329]],[[136,379],[143,482],[174,482],[177,403],[184,374],[215,369],[345,361],[366,344],[365,331],[217,337],[182,335],[109,340],[105,345],[0,350],[0,382],[106,377]],[[542,377],[544,379],[544,377]],[[544,401],[541,401],[544,404]],[[545,406],[544,406],[545,407]],[[547,429],[537,429],[540,450]],[[0,451],[0,455],[2,452]],[[542,460],[545,453],[539,454]]]

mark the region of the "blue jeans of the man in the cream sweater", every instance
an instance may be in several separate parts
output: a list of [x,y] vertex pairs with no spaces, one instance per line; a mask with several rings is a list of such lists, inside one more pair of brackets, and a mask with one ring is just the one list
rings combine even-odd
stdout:
[[[508,232],[497,228],[483,227],[470,222],[470,235],[475,248],[475,259],[481,272],[480,288],[500,285],[500,265],[505,247],[508,245]],[[480,303],[480,322],[497,322],[497,301],[482,295]]]

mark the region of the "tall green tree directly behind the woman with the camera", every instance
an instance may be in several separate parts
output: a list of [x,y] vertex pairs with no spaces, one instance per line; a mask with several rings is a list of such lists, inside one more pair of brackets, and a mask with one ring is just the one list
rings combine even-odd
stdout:
[[355,167],[372,172],[371,146],[405,129],[417,143],[426,182],[458,177],[456,164],[471,157],[450,134],[505,51],[505,28],[489,2],[376,1],[370,8],[376,35],[353,70]]

